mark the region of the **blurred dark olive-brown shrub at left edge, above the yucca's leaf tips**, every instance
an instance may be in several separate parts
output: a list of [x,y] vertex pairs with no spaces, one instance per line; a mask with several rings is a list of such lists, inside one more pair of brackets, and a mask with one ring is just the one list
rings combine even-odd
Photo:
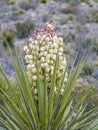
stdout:
[[0,41],[2,45],[6,48],[9,45],[11,48],[14,47],[15,35],[12,30],[5,30],[1,32]]

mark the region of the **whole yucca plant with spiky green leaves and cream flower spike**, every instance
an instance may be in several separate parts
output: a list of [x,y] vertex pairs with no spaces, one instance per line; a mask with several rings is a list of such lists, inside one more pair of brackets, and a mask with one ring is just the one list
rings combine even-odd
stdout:
[[[26,56],[27,69],[17,52],[15,56],[11,53],[19,95],[17,95],[13,85],[10,84],[9,79],[0,68],[0,73],[4,76],[5,82],[7,82],[14,95],[14,99],[16,99],[13,101],[0,87],[0,93],[5,97],[4,105],[0,104],[0,126],[6,130],[98,130],[98,118],[96,116],[98,109],[93,108],[85,112],[86,105],[84,104],[84,99],[88,90],[85,89],[82,96],[78,98],[78,101],[75,104],[73,103],[74,97],[72,91],[81,72],[84,58],[80,60],[75,70],[72,67],[68,77],[66,77],[67,65],[64,70],[62,67],[61,75],[58,77],[58,70],[61,69],[62,63],[62,58],[59,58],[62,44],[57,47],[56,58],[53,61],[54,69],[51,69],[49,66],[51,65],[50,61],[48,66],[44,64],[46,63],[47,55],[44,55],[45,60],[43,62],[42,55],[39,57],[43,49],[36,50],[35,45],[39,45],[36,41],[36,36],[39,38],[39,34],[41,35],[39,40],[41,48],[43,34],[53,34],[51,38],[55,36],[52,27],[51,22],[47,23],[44,30],[34,33],[32,41],[30,40],[24,48],[26,55],[29,56]],[[48,37],[47,40],[50,40]],[[46,36],[44,38],[46,39]],[[31,46],[31,43],[35,46],[35,49]],[[47,41],[47,46],[50,45],[48,43]],[[32,49],[36,50],[36,53],[32,53],[34,50],[31,52],[32,49],[28,48],[29,45]],[[53,45],[53,42],[51,45]],[[53,55],[51,56],[54,57]],[[32,72],[30,65],[35,67],[32,69]],[[52,70],[53,72],[51,73]],[[65,77],[67,80],[65,80]],[[96,118],[93,119],[95,116]]]

